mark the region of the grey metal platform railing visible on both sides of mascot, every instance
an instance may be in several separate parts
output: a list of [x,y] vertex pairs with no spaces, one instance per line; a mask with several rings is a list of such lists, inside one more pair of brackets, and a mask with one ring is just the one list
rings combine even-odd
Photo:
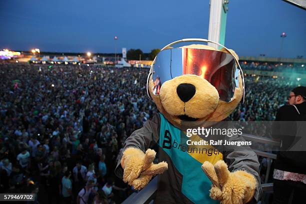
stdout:
[[[279,146],[280,142],[275,139],[269,139],[266,137],[255,136],[251,134],[242,134],[243,138],[246,140],[251,140],[259,143],[267,143],[275,146]],[[269,153],[260,150],[253,150],[257,155],[263,156],[267,158],[267,169],[265,174],[264,183],[261,184],[261,188],[263,192],[272,192],[273,191],[273,183],[267,183],[268,175],[270,172],[270,167],[272,163],[272,159],[276,158],[276,154]],[[154,197],[156,196],[157,191],[157,180],[158,175],[155,176],[143,189],[138,192],[133,192],[129,195],[122,203],[123,204],[134,204],[134,203],[143,203],[148,204],[151,203]],[[263,197],[262,197],[263,198]],[[262,199],[261,199],[262,200]]]

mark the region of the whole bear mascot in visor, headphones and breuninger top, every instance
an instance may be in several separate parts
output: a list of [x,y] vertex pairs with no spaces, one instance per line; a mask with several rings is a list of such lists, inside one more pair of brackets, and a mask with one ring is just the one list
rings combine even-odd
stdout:
[[[255,203],[261,194],[259,162],[250,148],[224,149],[194,142],[207,139],[200,134],[186,136],[188,128],[215,127],[244,97],[236,53],[191,41],[216,43],[182,39],[157,54],[147,93],[159,113],[126,138],[115,174],[134,189],[159,174],[155,203]],[[178,42],[189,45],[173,47]]]

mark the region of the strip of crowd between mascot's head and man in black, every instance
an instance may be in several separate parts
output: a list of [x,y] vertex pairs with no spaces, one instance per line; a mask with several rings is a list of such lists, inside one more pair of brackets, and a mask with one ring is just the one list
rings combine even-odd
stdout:
[[272,121],[275,112],[286,104],[288,91],[302,81],[269,76],[245,76],[244,103],[239,103],[227,119],[240,121]]

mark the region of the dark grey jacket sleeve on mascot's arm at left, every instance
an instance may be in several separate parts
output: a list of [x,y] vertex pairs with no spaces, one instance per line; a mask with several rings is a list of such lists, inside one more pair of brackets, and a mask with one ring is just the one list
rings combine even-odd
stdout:
[[147,120],[140,129],[133,131],[131,135],[126,138],[115,168],[116,176],[119,178],[123,176],[123,168],[120,164],[123,151],[128,147],[136,147],[143,152],[151,148],[159,139],[159,125],[160,117],[158,114],[155,114],[151,120]]

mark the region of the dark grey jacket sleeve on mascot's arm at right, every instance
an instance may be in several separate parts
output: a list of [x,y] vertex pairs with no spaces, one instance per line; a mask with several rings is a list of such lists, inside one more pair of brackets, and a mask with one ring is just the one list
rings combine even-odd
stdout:
[[[225,139],[228,141],[244,141],[239,135],[226,137]],[[262,189],[259,171],[260,164],[256,153],[249,146],[226,146],[223,155],[230,172],[244,170],[256,178],[257,185],[254,198],[258,201],[262,194]]]

